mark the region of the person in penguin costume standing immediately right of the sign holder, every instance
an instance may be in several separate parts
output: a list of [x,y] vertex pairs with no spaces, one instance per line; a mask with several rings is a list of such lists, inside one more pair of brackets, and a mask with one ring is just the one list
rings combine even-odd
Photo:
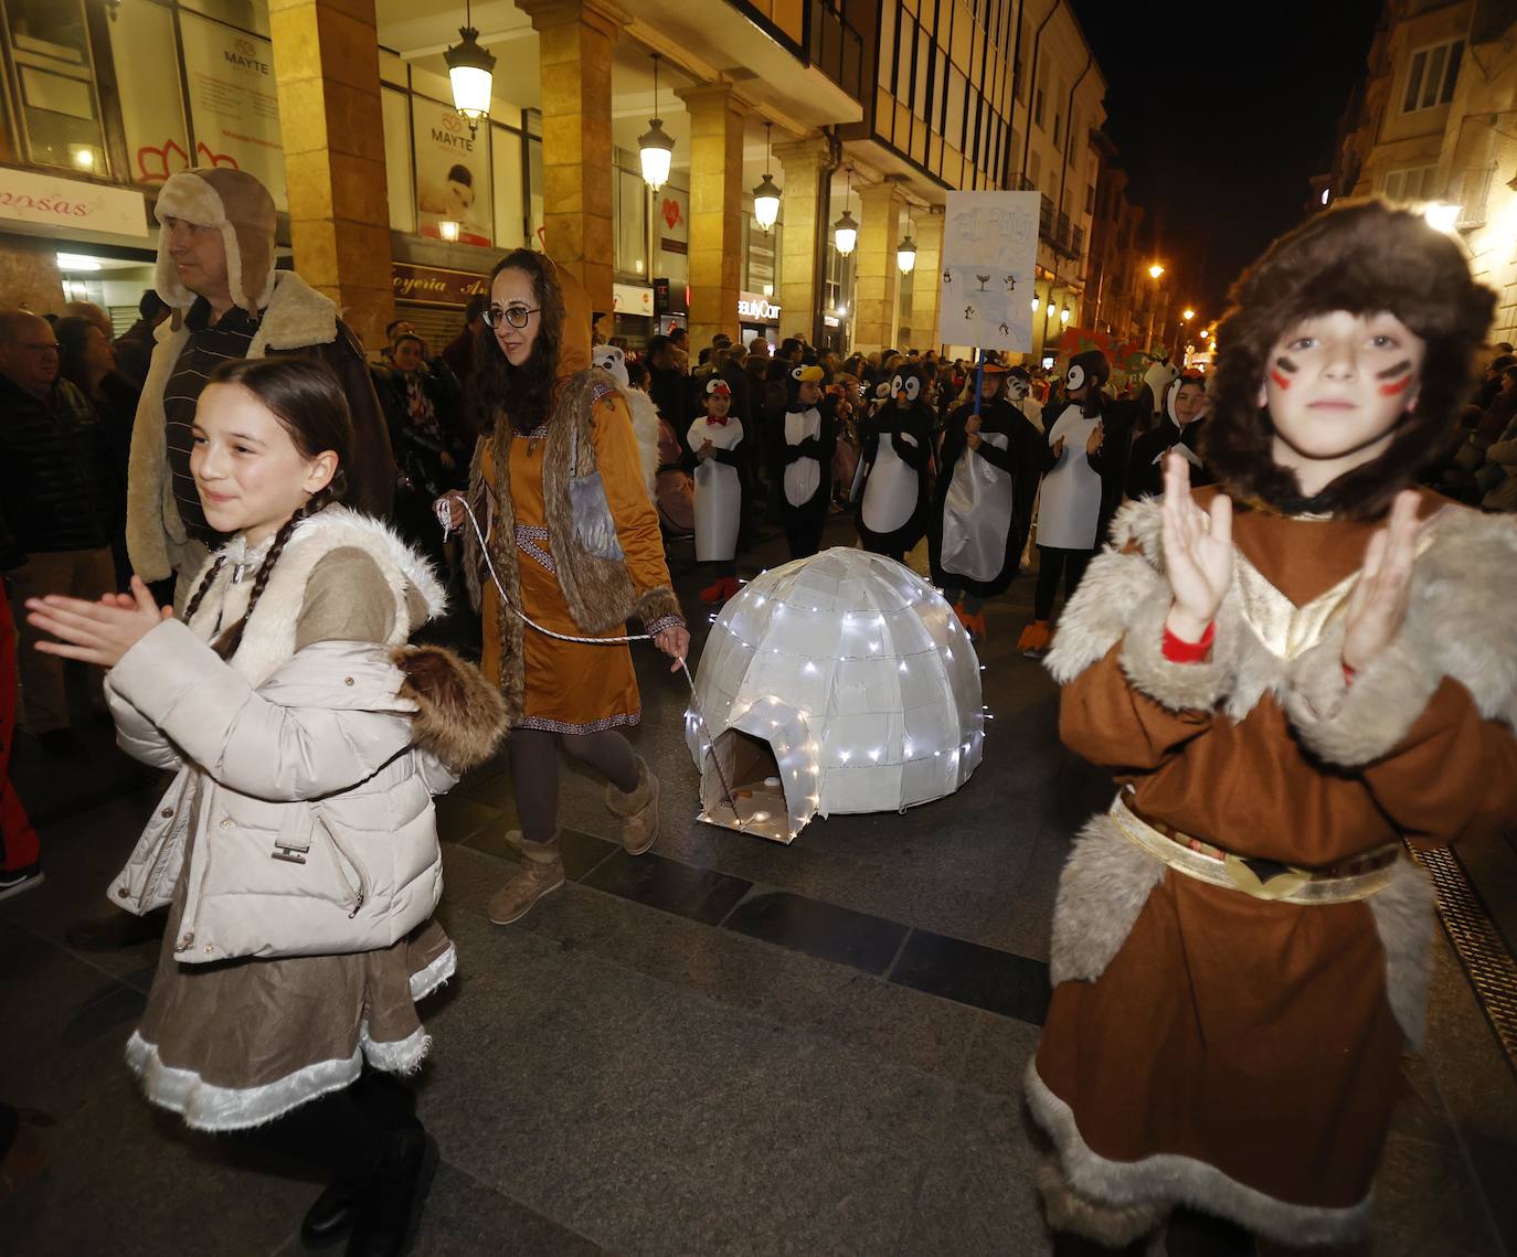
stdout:
[[1053,641],[1053,603],[1063,578],[1074,594],[1123,499],[1127,447],[1142,402],[1115,402],[1101,388],[1110,364],[1098,349],[1076,353],[1065,368],[1063,396],[1044,406],[1044,479],[1038,505],[1038,590],[1033,622],[1018,649],[1042,658]]

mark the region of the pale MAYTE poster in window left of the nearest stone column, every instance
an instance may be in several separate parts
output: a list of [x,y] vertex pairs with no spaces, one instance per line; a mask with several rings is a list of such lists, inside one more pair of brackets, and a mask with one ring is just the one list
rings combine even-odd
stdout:
[[273,44],[218,21],[181,12],[196,165],[255,174],[288,209]]

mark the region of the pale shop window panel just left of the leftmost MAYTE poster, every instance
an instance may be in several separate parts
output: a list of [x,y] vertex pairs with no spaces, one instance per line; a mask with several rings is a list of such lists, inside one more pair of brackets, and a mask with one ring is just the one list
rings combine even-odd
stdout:
[[194,164],[179,99],[173,12],[152,0],[121,0],[108,29],[126,132],[127,179],[162,183]]

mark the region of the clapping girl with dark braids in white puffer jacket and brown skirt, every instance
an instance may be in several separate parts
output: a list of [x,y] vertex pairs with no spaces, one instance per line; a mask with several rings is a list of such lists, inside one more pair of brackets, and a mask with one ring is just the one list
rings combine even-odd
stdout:
[[29,607],[68,643],[46,649],[109,669],[123,749],[176,773],[111,887],[129,911],[168,907],[127,1063],[194,1130],[278,1118],[272,1134],[331,1175],[303,1237],[350,1230],[367,1257],[404,1249],[437,1158],[385,1086],[420,1067],[416,1002],[455,963],[432,920],[432,795],[488,757],[504,705],[472,666],[405,646],[443,591],[338,505],[350,446],[325,364],[228,362],[200,397],[191,472],[232,540],[185,620],[137,578],[99,603]]

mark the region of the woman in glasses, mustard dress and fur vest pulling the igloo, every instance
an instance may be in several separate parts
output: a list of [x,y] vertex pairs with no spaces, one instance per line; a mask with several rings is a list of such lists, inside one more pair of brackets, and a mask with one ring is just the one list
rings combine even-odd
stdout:
[[607,807],[622,819],[628,854],[642,855],[658,839],[658,779],[620,732],[642,719],[631,652],[564,638],[623,637],[636,616],[678,669],[690,634],[627,396],[590,365],[590,305],[578,281],[542,253],[508,253],[490,277],[475,356],[476,402],[490,431],[475,452],[469,500],[488,566],[463,505],[452,514],[464,526],[470,590],[484,617],[481,667],[501,685],[511,725],[522,828],[508,837],[523,860],[490,901],[490,919],[508,925],[564,882],[560,744],[607,778]]

